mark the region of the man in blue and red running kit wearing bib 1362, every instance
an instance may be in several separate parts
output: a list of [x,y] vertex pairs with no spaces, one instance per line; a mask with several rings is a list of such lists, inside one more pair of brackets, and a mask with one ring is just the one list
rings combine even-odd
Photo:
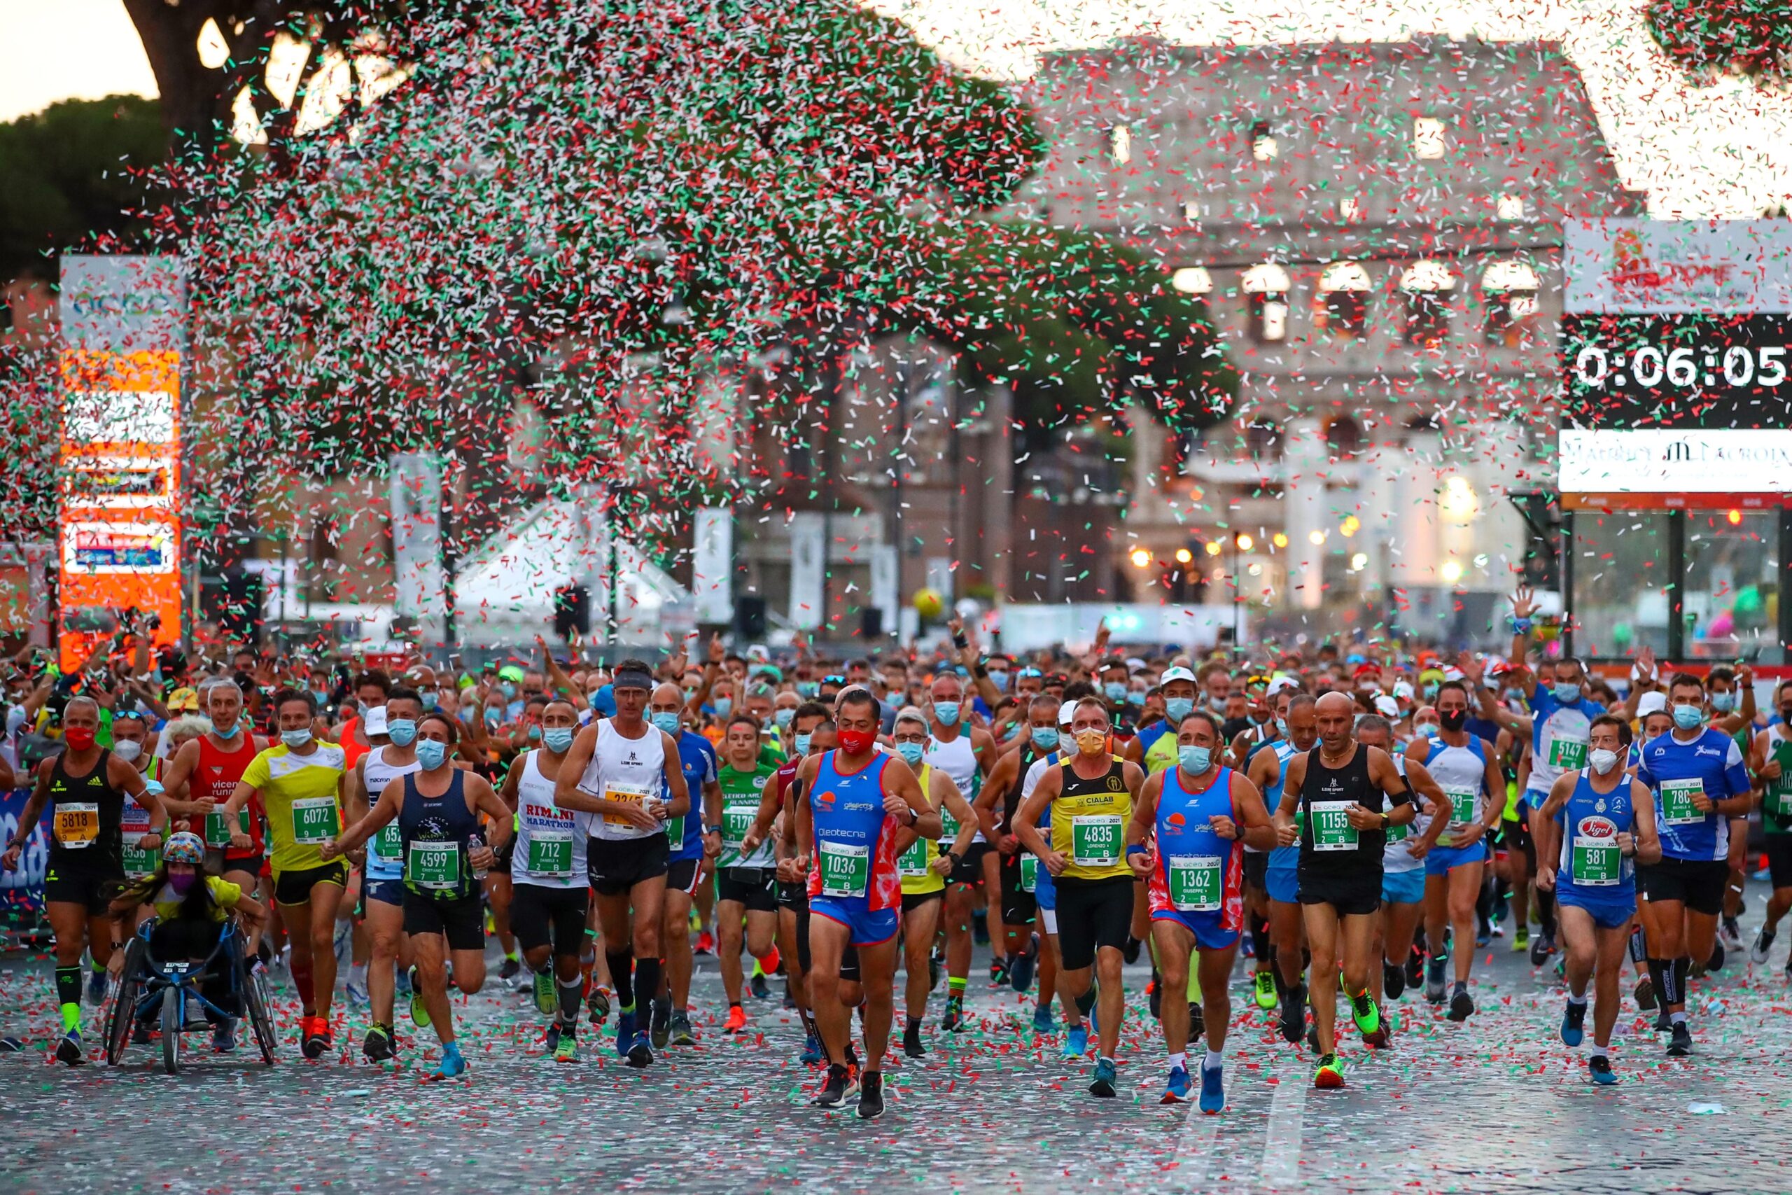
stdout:
[[[1145,781],[1127,826],[1127,864],[1149,880],[1150,939],[1163,984],[1163,1045],[1170,1079],[1163,1102],[1188,1096],[1188,959],[1201,951],[1201,1019],[1208,1055],[1201,1064],[1201,1111],[1226,1107],[1220,1070],[1231,1023],[1228,980],[1244,930],[1244,840],[1274,842],[1256,785],[1222,767],[1226,738],[1206,709],[1176,729],[1176,767]],[[1147,846],[1147,842],[1150,846]]]

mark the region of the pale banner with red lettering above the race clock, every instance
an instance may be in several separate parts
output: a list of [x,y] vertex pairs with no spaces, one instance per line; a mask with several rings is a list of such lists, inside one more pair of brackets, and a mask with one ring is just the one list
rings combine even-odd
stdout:
[[1792,220],[1568,220],[1570,315],[1792,314]]

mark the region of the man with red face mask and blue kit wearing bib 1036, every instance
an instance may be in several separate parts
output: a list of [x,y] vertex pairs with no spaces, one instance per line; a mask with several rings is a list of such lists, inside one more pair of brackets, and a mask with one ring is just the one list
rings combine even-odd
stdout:
[[866,1071],[858,1116],[883,1113],[883,1050],[889,1045],[901,876],[896,856],[918,837],[939,838],[939,810],[901,758],[880,752],[878,701],[866,688],[840,692],[839,749],[803,761],[796,804],[797,869],[808,871],[808,996],[828,1050],[828,1079],[815,1104],[839,1107],[849,1071],[851,1009],[840,1002],[840,957],[858,950],[864,987]]

